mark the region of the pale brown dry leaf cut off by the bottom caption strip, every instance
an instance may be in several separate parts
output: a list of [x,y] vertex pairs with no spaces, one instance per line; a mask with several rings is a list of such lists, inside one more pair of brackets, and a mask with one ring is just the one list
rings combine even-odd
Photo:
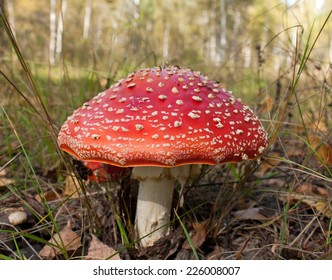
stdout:
[[[111,257],[112,256],[112,257]],[[110,258],[111,257],[111,258]],[[113,248],[102,243],[96,236],[92,235],[86,260],[120,260],[120,256]]]

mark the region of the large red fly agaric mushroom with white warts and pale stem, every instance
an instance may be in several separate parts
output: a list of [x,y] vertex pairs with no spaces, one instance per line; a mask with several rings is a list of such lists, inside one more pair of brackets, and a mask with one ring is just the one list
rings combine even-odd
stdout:
[[265,130],[248,106],[191,69],[138,70],[83,104],[62,126],[60,148],[79,160],[134,167],[136,236],[165,236],[174,185],[191,164],[255,159]]

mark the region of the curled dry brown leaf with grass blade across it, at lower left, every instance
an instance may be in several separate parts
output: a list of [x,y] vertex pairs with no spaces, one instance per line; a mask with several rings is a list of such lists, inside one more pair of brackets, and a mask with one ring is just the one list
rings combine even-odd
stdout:
[[54,234],[49,242],[54,246],[45,245],[39,252],[41,257],[53,258],[61,254],[62,250],[67,252],[75,251],[81,247],[80,236],[71,229],[70,220],[68,220],[67,225],[59,232],[59,234]]

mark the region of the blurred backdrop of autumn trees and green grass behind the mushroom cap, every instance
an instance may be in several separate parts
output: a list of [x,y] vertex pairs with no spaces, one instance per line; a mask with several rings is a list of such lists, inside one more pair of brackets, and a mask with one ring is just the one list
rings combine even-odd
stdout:
[[[323,85],[327,90],[332,84],[331,20],[322,29],[332,10],[327,0],[2,0],[2,4],[57,125],[129,72],[165,63],[191,67],[220,81],[255,111],[265,102],[261,116],[269,121],[272,104],[287,95],[306,44],[313,44],[320,31],[298,88],[308,97],[316,96],[308,89]],[[2,72],[28,94],[3,29],[0,43]],[[0,93],[7,101],[14,98],[11,91],[5,81]],[[324,98],[328,104],[326,94]],[[310,98],[304,106],[310,108],[316,101]],[[63,110],[56,110],[59,106]]]

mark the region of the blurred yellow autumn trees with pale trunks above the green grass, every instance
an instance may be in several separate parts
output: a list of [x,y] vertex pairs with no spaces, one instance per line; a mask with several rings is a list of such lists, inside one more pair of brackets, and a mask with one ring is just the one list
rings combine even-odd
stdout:
[[[291,67],[297,32],[307,36],[315,20],[316,33],[332,9],[332,2],[324,0],[4,3],[24,55],[33,63],[66,63],[105,76],[116,69],[170,63],[204,70],[225,82],[260,63],[268,64],[269,79],[277,78],[280,69]],[[331,23],[324,33],[311,56],[320,67],[332,60]],[[4,46],[6,38],[1,41]],[[10,48],[1,49],[1,60],[9,60]]]

